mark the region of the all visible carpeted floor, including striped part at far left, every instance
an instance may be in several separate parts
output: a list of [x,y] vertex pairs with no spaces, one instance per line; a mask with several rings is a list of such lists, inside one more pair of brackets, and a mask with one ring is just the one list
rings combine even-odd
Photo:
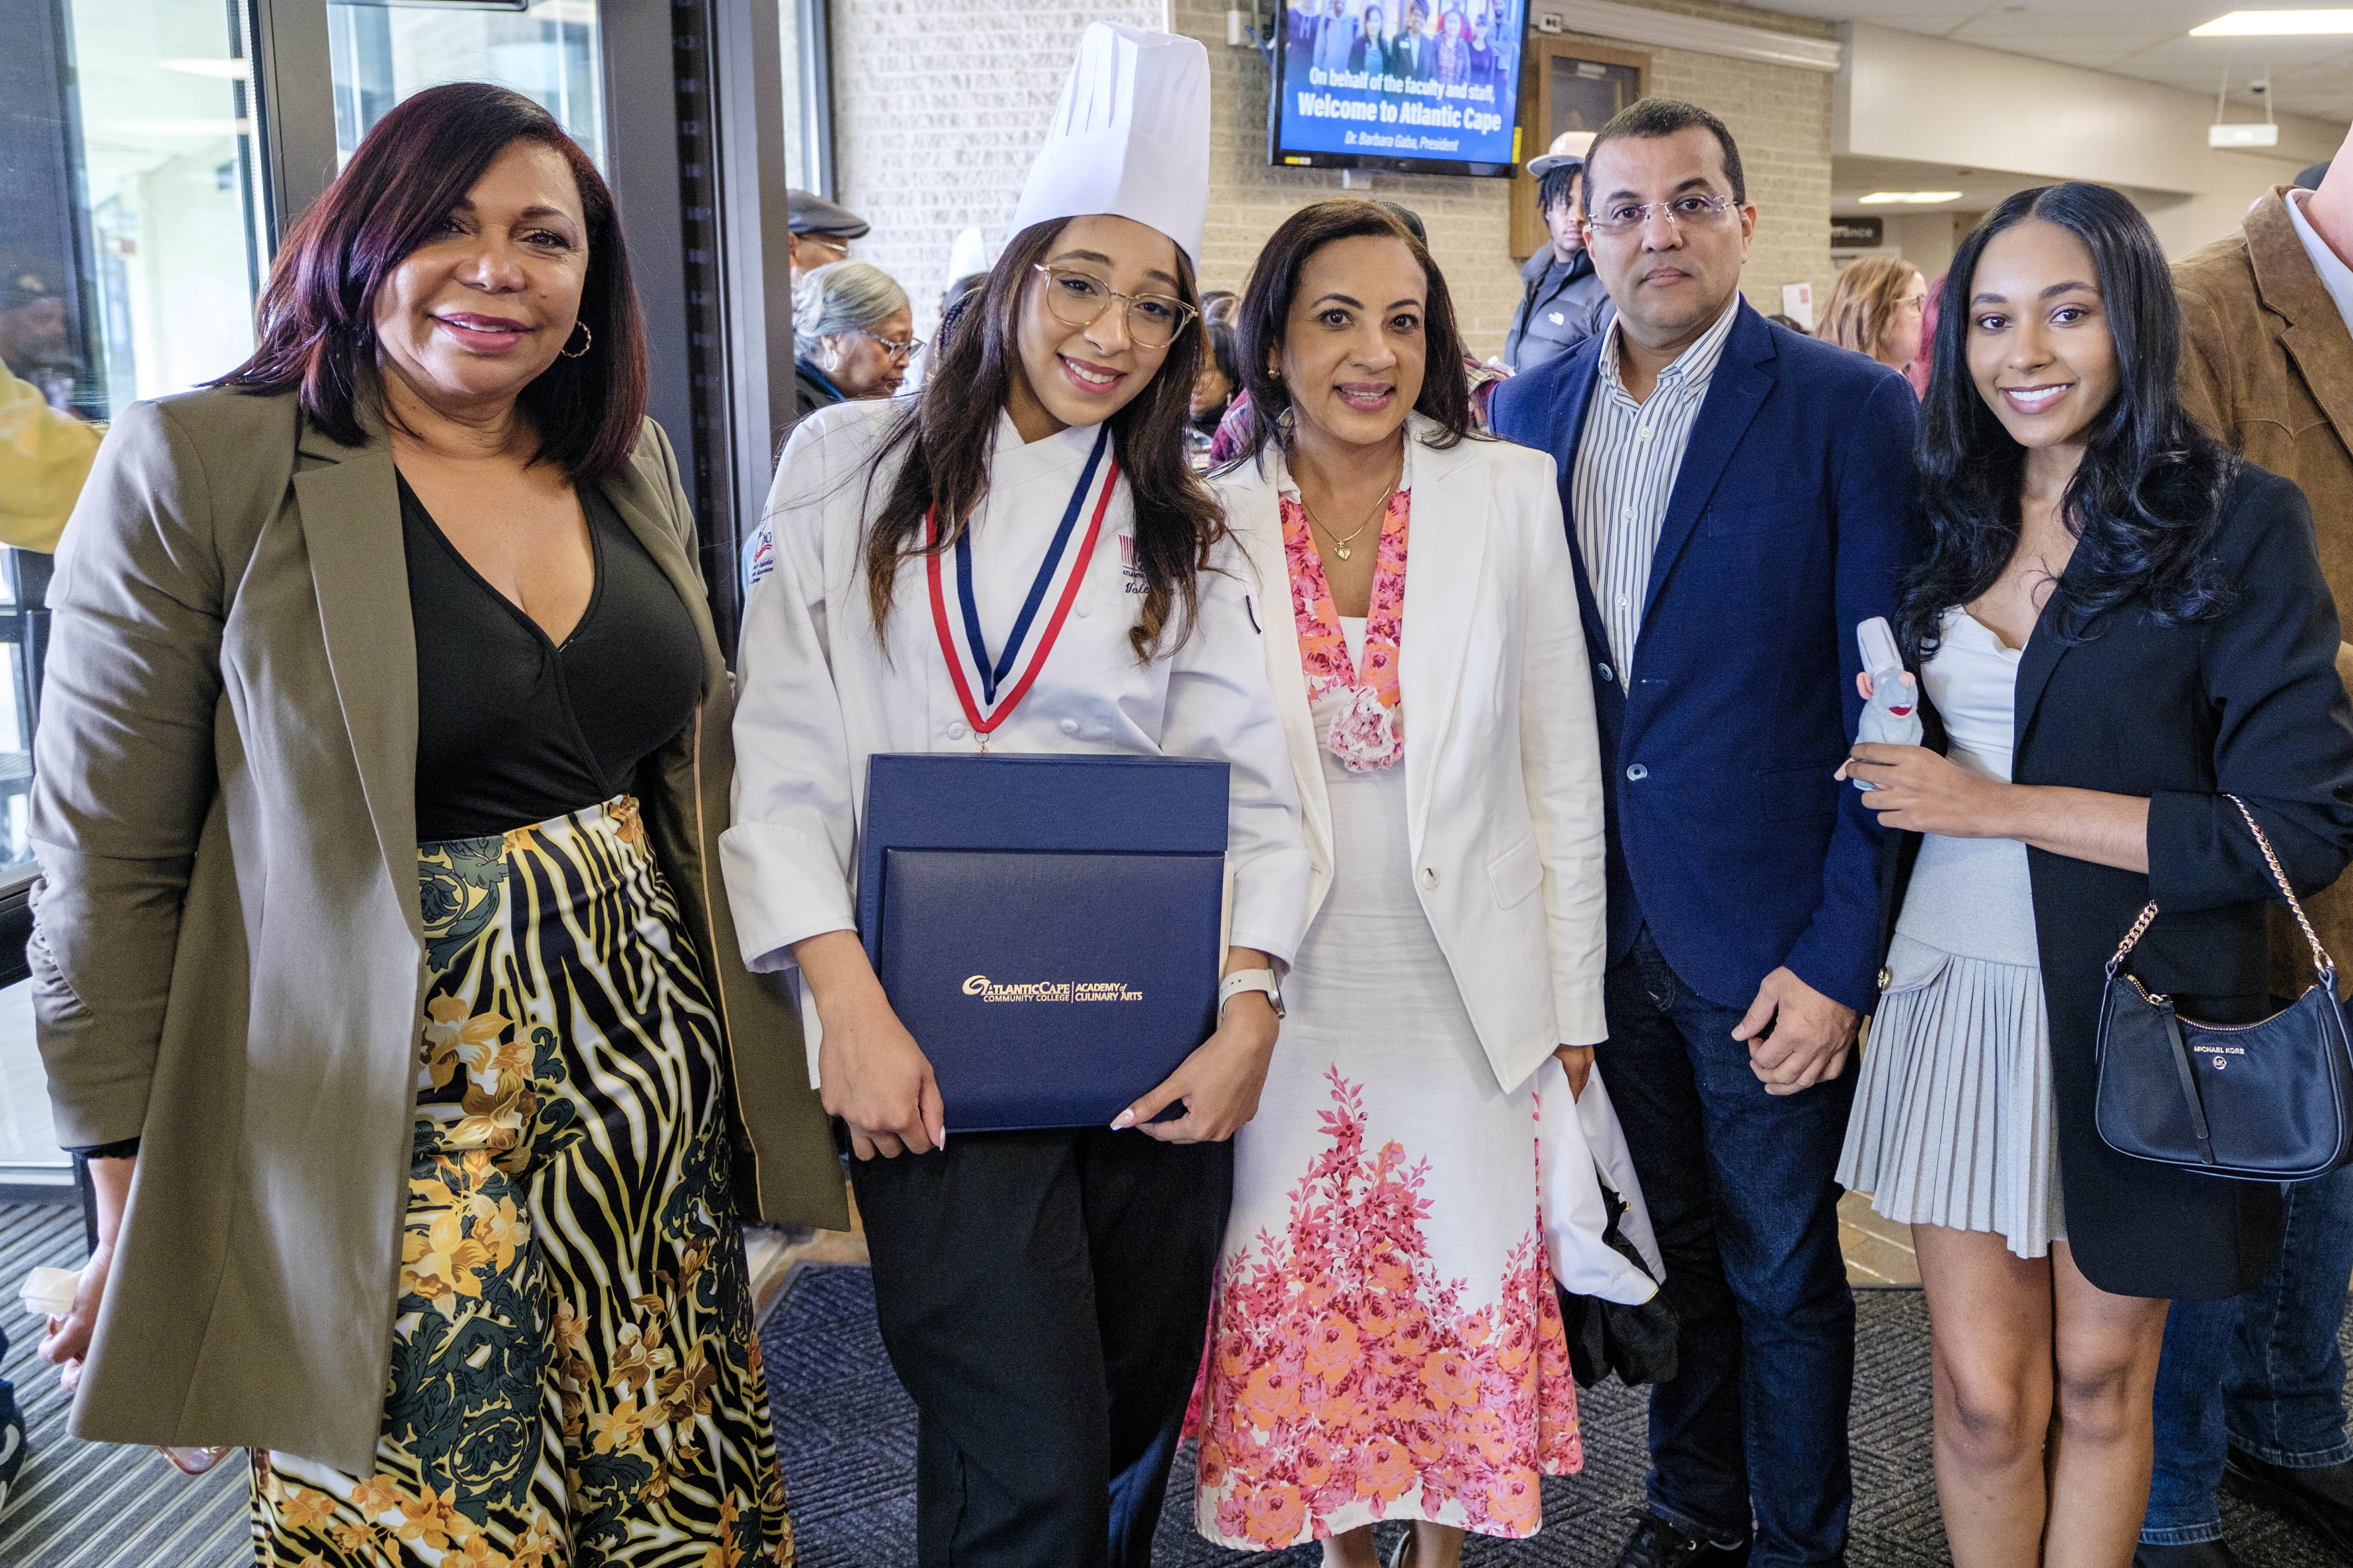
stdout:
[[[0,1204],[0,1286],[35,1262],[80,1262],[71,1208]],[[14,1314],[5,1375],[31,1418],[31,1455],[0,1516],[5,1568],[238,1568],[245,1535],[245,1467],[188,1481],[148,1448],[78,1443],[66,1436],[66,1399],[33,1361],[35,1328]],[[1854,1399],[1857,1568],[1944,1563],[1944,1533],[1927,1453],[1927,1312],[1918,1291],[1864,1291]],[[760,1331],[779,1450],[793,1497],[805,1568],[906,1568],[915,1561],[915,1410],[899,1389],[873,1321],[864,1267],[805,1265]],[[1544,1488],[1544,1535],[1473,1542],[1473,1566],[1614,1559],[1626,1516],[1642,1495],[1642,1396],[1624,1387],[1584,1394],[1586,1469]],[[2322,1568],[2318,1540],[2292,1523],[2224,1500],[2231,1542],[2249,1568]],[[1386,1530],[1384,1530],[1386,1540]],[[1179,1460],[1155,1561],[1209,1568],[1252,1561],[1219,1552],[1191,1528],[1191,1465]],[[1304,1568],[1315,1552],[1257,1559]]]

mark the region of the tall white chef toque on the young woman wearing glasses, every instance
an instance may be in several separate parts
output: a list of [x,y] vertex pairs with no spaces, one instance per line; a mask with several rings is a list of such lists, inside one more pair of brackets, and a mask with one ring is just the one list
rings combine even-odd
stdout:
[[1111,214],[1200,263],[1209,216],[1209,52],[1198,38],[1089,21],[1012,233]]

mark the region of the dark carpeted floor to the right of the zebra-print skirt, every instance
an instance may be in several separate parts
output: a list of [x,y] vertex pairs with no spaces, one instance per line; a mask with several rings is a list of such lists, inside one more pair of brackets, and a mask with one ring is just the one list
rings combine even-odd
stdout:
[[[1951,1561],[1929,1472],[1927,1307],[1918,1291],[1857,1293],[1857,1568]],[[873,1288],[859,1267],[802,1267],[760,1328],[802,1568],[911,1568],[915,1561],[915,1408],[882,1356]],[[1534,1540],[1475,1540],[1464,1563],[1605,1568],[1642,1507],[1640,1392],[1617,1382],[1581,1396],[1586,1469],[1548,1481]],[[1160,1568],[1261,1563],[1306,1568],[1320,1552],[1221,1552],[1191,1526],[1191,1450],[1176,1462],[1153,1561]],[[2224,1497],[2224,1530],[2249,1568],[2334,1568],[2299,1526]],[[1391,1528],[1381,1530],[1381,1542]]]

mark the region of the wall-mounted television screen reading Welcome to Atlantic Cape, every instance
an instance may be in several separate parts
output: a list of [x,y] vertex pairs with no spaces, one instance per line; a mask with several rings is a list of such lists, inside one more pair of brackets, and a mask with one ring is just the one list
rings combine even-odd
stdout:
[[1280,0],[1266,162],[1504,174],[1527,0]]

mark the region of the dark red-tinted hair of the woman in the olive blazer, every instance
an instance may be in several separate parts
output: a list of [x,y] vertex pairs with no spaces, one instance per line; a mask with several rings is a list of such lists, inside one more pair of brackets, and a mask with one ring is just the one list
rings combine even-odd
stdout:
[[572,480],[605,480],[628,463],[645,423],[645,317],[612,190],[555,115],[489,82],[428,87],[376,122],[271,263],[259,348],[221,376],[247,393],[301,393],[301,411],[358,447],[358,404],[376,395],[376,289],[433,237],[482,172],[515,141],[539,141],[572,167],[588,219],[588,277],[579,320],[588,353],[558,357],[527,388],[539,433],[534,461]]

